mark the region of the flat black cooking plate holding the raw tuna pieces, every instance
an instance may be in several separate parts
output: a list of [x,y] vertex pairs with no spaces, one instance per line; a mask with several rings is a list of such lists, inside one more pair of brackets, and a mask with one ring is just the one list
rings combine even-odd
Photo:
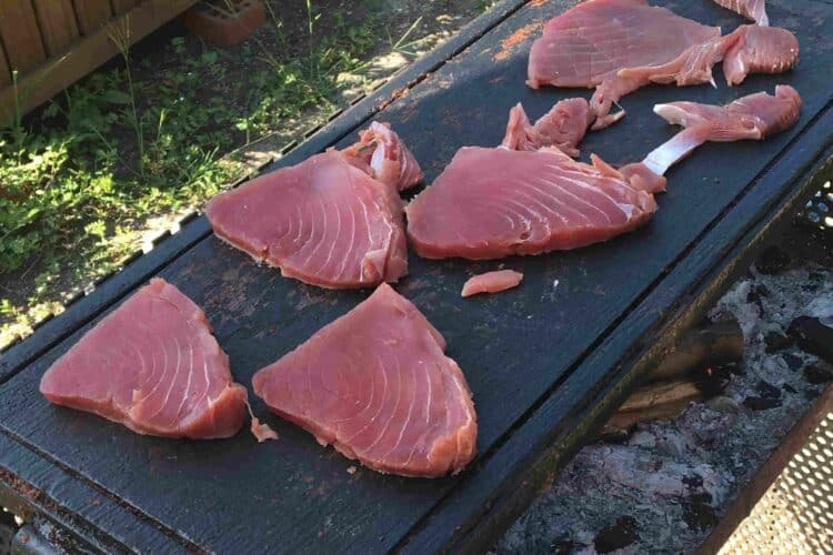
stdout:
[[[435,178],[456,149],[500,142],[510,107],[538,117],[585,90],[524,84],[541,26],[574,1],[501,2],[273,167],[353,141],[390,121]],[[662,3],[707,24],[742,20],[706,0]],[[725,103],[776,83],[804,99],[800,122],[765,142],[707,144],[669,173],[643,229],[573,252],[502,261],[523,284],[462,299],[463,282],[499,262],[410,258],[397,285],[443,333],[474,393],[479,456],[441,480],[384,476],[353,465],[274,416],[280,441],[248,433],[189,442],[136,435],[56,407],[38,393],[46,369],[152,275],[174,283],[211,321],[238,382],[345,313],[369,293],[325,291],[257,266],[217,240],[204,218],[73,304],[0,360],[0,501],[10,498],[109,551],[422,553],[488,546],[552,478],[681,325],[702,313],[772,222],[801,201],[833,129],[833,4],[767,2],[773,24],[801,41],[800,65],[729,88],[649,87],[626,118],[582,145],[613,164],[640,160],[678,131],[651,112],[673,100]],[[558,280],[558,285],[554,282]],[[254,411],[265,414],[259,401]]]

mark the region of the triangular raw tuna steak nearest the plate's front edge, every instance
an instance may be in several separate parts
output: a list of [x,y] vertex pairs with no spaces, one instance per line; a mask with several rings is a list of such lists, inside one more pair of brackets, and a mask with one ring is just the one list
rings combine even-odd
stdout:
[[383,473],[441,476],[475,453],[471,392],[445,341],[390,285],[259,371],[278,415]]

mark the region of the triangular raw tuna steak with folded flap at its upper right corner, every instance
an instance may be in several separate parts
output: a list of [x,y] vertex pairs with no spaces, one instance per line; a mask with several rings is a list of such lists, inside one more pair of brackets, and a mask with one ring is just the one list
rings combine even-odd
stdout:
[[220,239],[285,276],[323,287],[368,287],[408,273],[397,191],[421,179],[395,133],[374,124],[357,145],[215,196],[207,214]]

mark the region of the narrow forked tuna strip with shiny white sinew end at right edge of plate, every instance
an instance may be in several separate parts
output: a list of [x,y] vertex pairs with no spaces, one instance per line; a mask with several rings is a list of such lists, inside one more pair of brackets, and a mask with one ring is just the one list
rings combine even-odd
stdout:
[[[770,28],[772,29],[772,28]],[[802,100],[787,84],[775,87],[775,95],[757,92],[726,105],[697,102],[656,104],[654,112],[669,123],[685,128],[642,162],[662,174],[706,141],[762,140],[780,133],[799,121]]]

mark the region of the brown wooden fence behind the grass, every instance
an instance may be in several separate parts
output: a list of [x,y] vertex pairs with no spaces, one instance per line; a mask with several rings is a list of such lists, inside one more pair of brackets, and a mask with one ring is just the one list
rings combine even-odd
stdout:
[[[0,124],[36,108],[197,0],[0,0]],[[16,78],[17,75],[17,78]]]

